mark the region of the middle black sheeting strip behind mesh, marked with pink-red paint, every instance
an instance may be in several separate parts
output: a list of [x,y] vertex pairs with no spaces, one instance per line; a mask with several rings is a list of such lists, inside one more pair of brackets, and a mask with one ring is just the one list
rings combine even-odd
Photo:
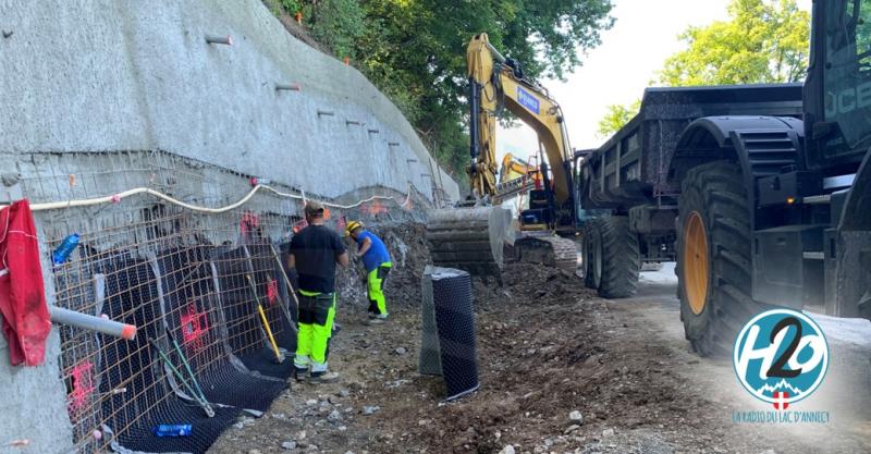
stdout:
[[207,254],[206,248],[187,248],[164,253],[158,259],[168,333],[184,345],[209,402],[266,412],[286,388],[286,377],[258,377],[234,364],[224,327],[247,326],[250,320],[257,323],[259,315],[255,306],[253,311],[234,312],[233,318],[221,320]]

